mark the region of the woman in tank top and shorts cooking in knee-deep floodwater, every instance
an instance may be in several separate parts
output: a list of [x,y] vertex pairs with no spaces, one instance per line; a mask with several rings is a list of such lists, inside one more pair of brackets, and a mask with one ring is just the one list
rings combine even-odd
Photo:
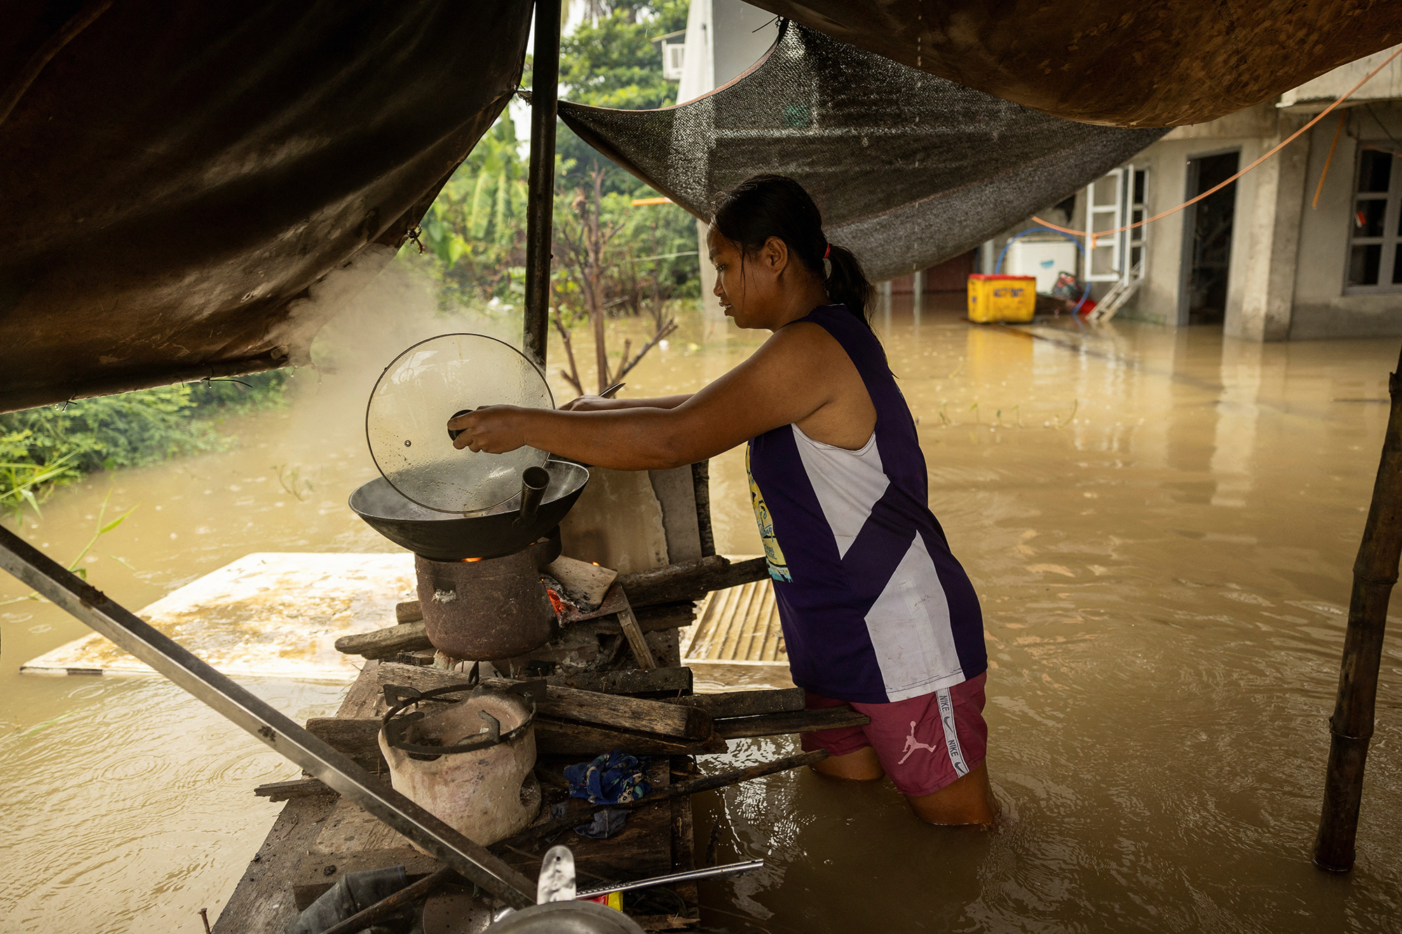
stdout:
[[927,505],[916,425],[865,318],[871,285],[781,175],[722,195],[707,245],[725,313],[774,332],[750,359],[693,395],[484,407],[449,422],[465,429],[456,445],[658,470],[749,442],[794,683],[810,710],[871,717],[805,733],[803,749],[830,753],[815,769],[890,776],[921,819],[987,825],[979,599]]

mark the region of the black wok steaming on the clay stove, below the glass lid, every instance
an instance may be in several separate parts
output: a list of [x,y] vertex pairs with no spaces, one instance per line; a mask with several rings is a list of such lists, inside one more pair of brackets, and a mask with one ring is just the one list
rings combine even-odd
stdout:
[[499,558],[550,533],[589,482],[589,471],[566,460],[545,461],[545,471],[550,482],[534,516],[529,517],[522,516],[519,495],[485,513],[436,512],[401,496],[384,477],[350,494],[350,508],[381,536],[425,558]]

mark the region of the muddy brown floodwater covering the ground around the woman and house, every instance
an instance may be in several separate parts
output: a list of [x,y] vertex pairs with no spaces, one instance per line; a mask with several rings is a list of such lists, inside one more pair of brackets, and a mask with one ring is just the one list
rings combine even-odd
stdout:
[[[250,551],[393,550],[345,506],[374,475],[362,433],[370,383],[422,337],[517,327],[508,311],[435,317],[415,287],[391,280],[334,323],[287,410],[230,421],[236,449],[95,475],[59,491],[24,534],[67,562],[105,496],[109,516],[136,506],[86,565],[133,609]],[[928,307],[918,323],[908,309],[878,316],[878,332],[920,418],[931,505],[983,599],[1004,816],[991,832],[927,827],[886,783],[809,773],[701,797],[700,858],[767,860],[702,885],[705,924],[1402,930],[1396,630],[1357,868],[1333,877],[1308,858],[1396,342],[1262,346],[1129,323],[979,328]],[[695,388],[761,337],[688,314],[624,391]],[[592,370],[587,335],[575,351]],[[551,353],[555,370],[558,344]],[[757,553],[743,461],[725,454],[712,477],[719,548]],[[0,581],[0,599],[22,593]],[[43,603],[0,606],[0,861],[11,868],[0,931],[199,931],[195,913],[217,916],[280,808],[252,785],[296,769],[160,679],[17,675],[84,631]],[[294,718],[334,710],[345,690],[245,683]],[[702,766],[792,745],[736,743]]]

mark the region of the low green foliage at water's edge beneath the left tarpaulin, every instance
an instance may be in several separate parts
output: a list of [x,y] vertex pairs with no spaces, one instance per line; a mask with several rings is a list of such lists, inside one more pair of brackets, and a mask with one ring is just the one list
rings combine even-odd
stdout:
[[286,370],[0,414],[0,512],[35,510],[59,484],[227,443],[220,417],[282,401]]

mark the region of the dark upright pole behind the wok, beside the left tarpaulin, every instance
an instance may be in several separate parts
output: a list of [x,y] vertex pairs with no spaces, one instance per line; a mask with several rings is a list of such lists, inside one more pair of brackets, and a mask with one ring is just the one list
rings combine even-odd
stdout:
[[559,93],[559,0],[536,0],[530,94],[530,195],[526,206],[526,334],[522,346],[545,366],[550,241],[555,220],[555,100]]

